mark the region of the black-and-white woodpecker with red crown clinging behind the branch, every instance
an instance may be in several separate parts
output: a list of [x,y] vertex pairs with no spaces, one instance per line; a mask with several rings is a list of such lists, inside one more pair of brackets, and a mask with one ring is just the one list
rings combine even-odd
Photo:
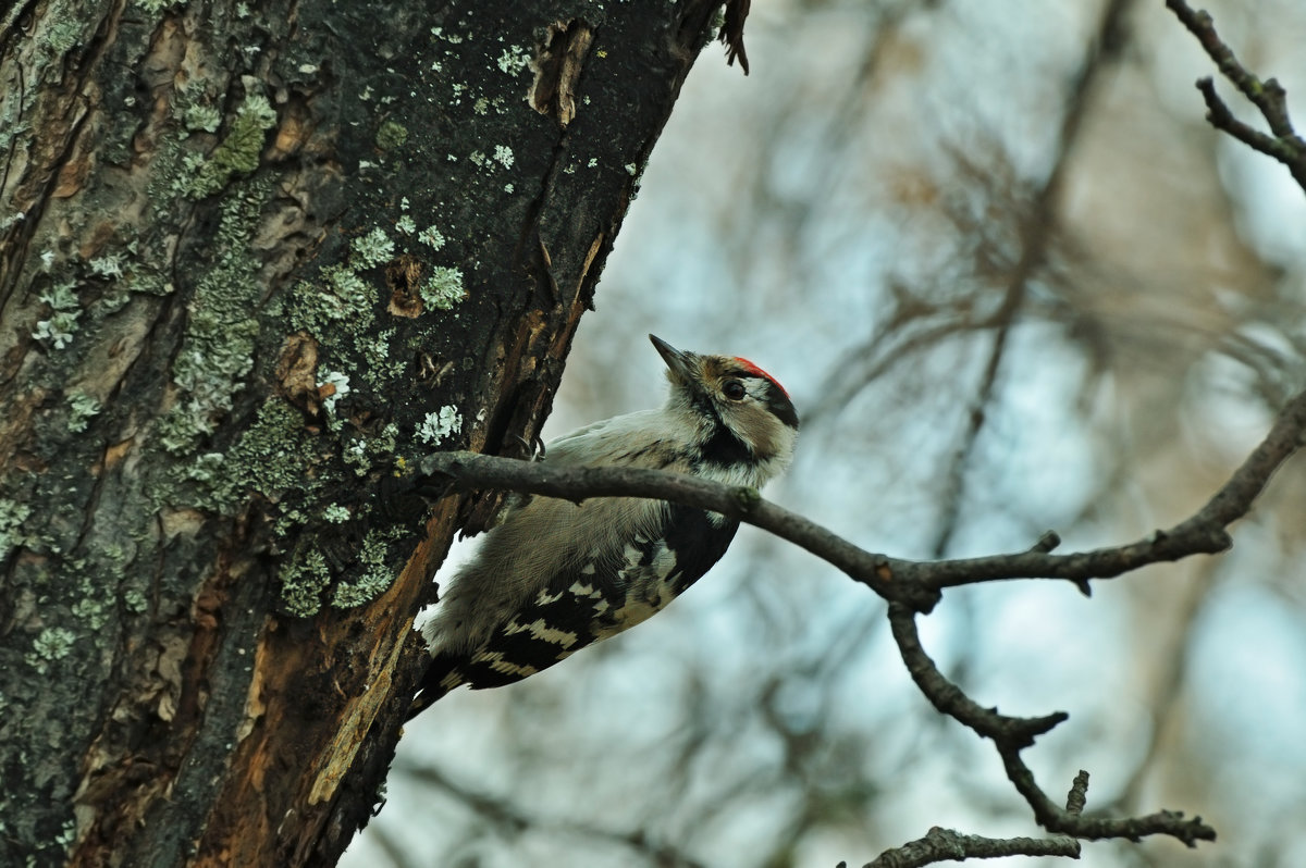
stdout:
[[[747,359],[649,339],[666,362],[666,405],[564,435],[542,461],[754,488],[784,473],[798,414],[774,377]],[[661,500],[517,500],[423,627],[432,660],[409,717],[456,687],[520,681],[646,620],[699,581],[738,529],[734,518]]]

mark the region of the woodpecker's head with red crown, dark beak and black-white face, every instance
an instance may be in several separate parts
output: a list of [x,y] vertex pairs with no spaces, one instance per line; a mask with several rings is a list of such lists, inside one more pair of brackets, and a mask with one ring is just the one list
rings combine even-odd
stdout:
[[666,362],[667,406],[693,426],[704,463],[752,466],[760,482],[789,465],[798,412],[774,377],[747,359],[677,350],[652,334],[649,341]]

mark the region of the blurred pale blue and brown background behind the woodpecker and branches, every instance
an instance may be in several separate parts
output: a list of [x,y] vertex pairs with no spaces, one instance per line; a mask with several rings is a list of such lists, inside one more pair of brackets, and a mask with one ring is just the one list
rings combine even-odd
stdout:
[[[1306,116],[1306,7],[1207,8]],[[777,0],[747,37],[751,77],[690,77],[546,435],[660,402],[654,332],[785,382],[799,459],[768,496],[858,544],[1083,548],[1190,514],[1306,381],[1302,191],[1204,121],[1215,69],[1164,4]],[[1220,831],[1083,864],[1306,864],[1302,475],[1226,556],[922,620],[980,702],[1070,711],[1027,754],[1050,788],[1089,769],[1091,811]],[[883,603],[751,529],[640,629],[441,701],[388,792],[343,864],[832,865],[935,824],[1036,833]]]

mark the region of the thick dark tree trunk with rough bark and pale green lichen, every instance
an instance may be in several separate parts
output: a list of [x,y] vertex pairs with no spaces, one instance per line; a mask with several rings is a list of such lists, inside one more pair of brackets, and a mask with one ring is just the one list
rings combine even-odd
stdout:
[[0,13],[0,863],[334,864],[718,5]]

